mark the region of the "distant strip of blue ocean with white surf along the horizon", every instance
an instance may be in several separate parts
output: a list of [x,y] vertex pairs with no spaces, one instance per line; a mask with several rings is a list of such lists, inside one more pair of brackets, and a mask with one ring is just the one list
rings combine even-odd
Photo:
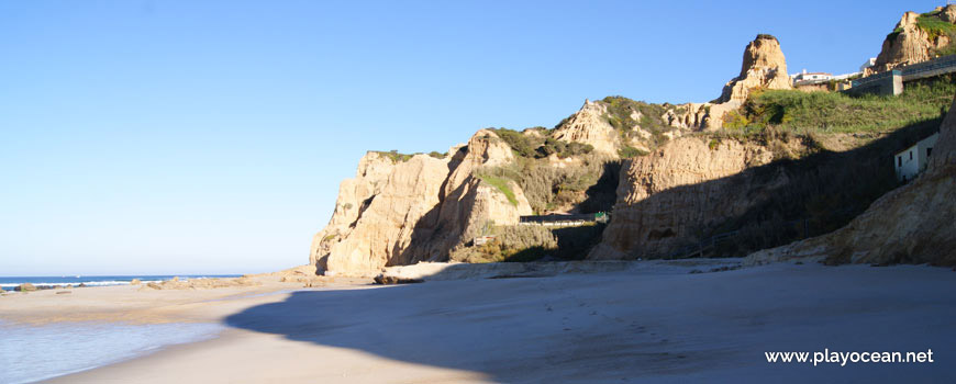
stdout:
[[133,279],[140,279],[143,283],[160,282],[175,276],[179,279],[204,279],[204,278],[238,278],[241,274],[157,274],[157,275],[74,275],[74,276],[0,276],[0,287],[3,291],[13,291],[16,285],[31,283],[36,287],[65,287],[84,284],[86,286],[126,285]]

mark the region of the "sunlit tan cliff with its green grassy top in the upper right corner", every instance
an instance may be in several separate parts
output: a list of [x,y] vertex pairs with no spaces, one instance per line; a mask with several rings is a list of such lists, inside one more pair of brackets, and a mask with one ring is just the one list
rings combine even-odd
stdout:
[[887,71],[900,66],[926,61],[949,46],[956,32],[956,4],[936,8],[933,12],[905,12],[893,32],[883,39],[876,64],[865,74]]

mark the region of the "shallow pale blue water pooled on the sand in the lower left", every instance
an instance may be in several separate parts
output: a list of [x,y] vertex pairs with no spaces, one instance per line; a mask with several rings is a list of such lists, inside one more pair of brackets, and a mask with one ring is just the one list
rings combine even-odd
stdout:
[[0,383],[29,383],[211,339],[218,324],[0,323]]

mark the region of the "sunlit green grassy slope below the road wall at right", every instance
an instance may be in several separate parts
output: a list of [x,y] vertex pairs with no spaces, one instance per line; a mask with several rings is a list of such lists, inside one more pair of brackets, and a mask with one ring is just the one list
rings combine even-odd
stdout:
[[738,111],[724,116],[724,128],[745,134],[768,126],[782,132],[890,132],[938,118],[956,93],[954,76],[908,82],[898,97],[851,97],[840,92],[768,90],[754,92]]

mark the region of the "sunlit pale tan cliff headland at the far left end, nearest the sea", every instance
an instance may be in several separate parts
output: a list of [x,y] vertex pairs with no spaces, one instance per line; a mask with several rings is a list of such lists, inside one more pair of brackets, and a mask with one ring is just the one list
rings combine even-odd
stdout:
[[374,275],[386,266],[447,260],[448,250],[480,227],[531,214],[521,188],[505,181],[514,202],[478,177],[513,160],[493,132],[476,133],[444,159],[416,155],[393,161],[369,153],[355,179],[340,188],[329,225],[313,237],[318,273]]

